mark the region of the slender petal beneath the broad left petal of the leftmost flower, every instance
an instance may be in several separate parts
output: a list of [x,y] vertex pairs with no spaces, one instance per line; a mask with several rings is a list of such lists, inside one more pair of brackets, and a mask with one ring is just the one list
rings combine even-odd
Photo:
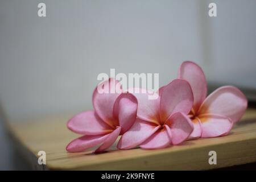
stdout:
[[69,152],[81,152],[87,148],[96,146],[104,142],[108,138],[109,134],[106,135],[85,135],[83,137],[77,138],[70,142],[66,147],[66,150]]

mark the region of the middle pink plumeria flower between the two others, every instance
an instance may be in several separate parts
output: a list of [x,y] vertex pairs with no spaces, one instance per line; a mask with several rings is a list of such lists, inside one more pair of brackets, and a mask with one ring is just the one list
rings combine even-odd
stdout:
[[193,124],[187,117],[193,105],[189,83],[180,79],[172,81],[156,100],[148,100],[145,93],[142,89],[134,93],[138,100],[138,118],[122,135],[117,147],[164,148],[186,140],[193,131]]

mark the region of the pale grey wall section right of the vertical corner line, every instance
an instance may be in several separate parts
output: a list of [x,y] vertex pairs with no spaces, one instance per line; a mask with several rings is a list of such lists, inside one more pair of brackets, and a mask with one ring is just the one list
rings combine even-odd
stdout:
[[213,1],[210,80],[256,88],[256,1]]

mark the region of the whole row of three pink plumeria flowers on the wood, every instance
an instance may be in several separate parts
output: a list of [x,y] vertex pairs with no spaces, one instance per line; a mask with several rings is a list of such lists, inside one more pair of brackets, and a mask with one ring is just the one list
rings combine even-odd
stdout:
[[[122,89],[113,78],[102,84]],[[187,139],[221,137],[247,108],[245,95],[234,86],[222,86],[207,97],[204,72],[191,61],[182,63],[178,78],[158,94],[158,99],[148,100],[145,92],[98,93],[96,88],[94,109],[68,121],[68,129],[83,136],[70,142],[67,151],[98,146],[93,152],[102,152],[119,135],[117,148],[121,150],[165,148]]]

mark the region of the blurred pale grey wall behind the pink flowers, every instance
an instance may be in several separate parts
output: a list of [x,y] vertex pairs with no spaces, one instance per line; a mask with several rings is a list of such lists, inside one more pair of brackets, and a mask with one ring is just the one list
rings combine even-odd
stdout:
[[[38,4],[46,3],[46,17]],[[209,17],[208,5],[217,5]],[[256,89],[256,1],[0,1],[0,104],[10,121],[92,108],[99,73],[177,77],[198,63],[213,85]],[[16,158],[0,123],[0,169]],[[24,168],[24,167],[23,167]]]

